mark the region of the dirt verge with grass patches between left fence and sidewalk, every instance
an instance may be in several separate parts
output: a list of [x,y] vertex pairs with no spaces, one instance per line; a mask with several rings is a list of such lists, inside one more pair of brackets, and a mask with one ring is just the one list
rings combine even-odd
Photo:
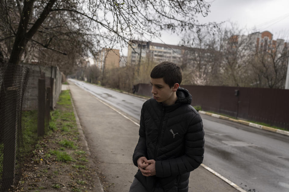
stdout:
[[50,131],[27,157],[21,179],[10,191],[101,191],[99,179],[104,191],[113,186],[82,146],[69,100],[69,91],[62,91],[51,113]]

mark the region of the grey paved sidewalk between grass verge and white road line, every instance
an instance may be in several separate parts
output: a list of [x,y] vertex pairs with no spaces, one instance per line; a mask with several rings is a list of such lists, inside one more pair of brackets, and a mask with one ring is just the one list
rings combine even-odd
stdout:
[[[138,126],[75,84],[70,83],[69,89],[91,158],[98,164],[101,179],[105,181],[103,187],[108,191],[127,192],[138,170],[132,163]],[[200,166],[191,172],[189,191],[238,190]]]

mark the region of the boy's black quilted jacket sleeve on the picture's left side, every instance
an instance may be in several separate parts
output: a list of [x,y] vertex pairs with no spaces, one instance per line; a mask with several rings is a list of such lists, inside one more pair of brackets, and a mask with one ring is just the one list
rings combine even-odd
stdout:
[[138,144],[136,145],[135,151],[132,155],[132,161],[137,167],[138,167],[137,164],[138,158],[147,156],[147,144],[144,127],[144,105],[141,108],[141,120],[139,122],[138,134],[139,134]]

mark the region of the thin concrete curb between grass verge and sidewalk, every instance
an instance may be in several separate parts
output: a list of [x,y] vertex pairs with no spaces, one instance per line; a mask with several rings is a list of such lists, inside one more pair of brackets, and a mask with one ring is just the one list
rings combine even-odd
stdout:
[[[67,90],[70,90],[70,89],[69,89],[69,85],[67,85],[67,87],[68,87]],[[86,141],[86,137],[85,137],[85,135],[83,134],[83,130],[82,130],[82,127],[81,127],[81,125],[80,125],[79,118],[78,118],[78,115],[77,115],[77,112],[76,112],[76,109],[75,109],[75,106],[74,106],[74,103],[73,103],[73,99],[72,99],[72,95],[71,95],[70,91],[69,91],[69,95],[70,95],[71,105],[72,105],[72,107],[73,107],[73,113],[74,113],[74,116],[75,116],[75,120],[76,120],[77,129],[78,129],[78,132],[79,132],[80,139],[83,141],[84,146],[85,146],[85,149],[86,149],[88,155],[90,156],[91,153],[90,153],[90,150],[89,150],[87,141]],[[100,181],[100,179],[99,179],[99,176],[97,175],[97,173],[95,173],[95,175],[97,176],[97,180],[98,180],[97,182],[98,182],[98,186],[100,186],[100,190],[101,190],[102,192],[104,192],[104,189],[103,189],[103,186],[102,186],[101,181]]]

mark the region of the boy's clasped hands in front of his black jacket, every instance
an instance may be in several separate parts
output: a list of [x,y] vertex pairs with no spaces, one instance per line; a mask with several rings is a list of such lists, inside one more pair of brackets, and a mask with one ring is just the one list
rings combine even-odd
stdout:
[[147,160],[146,157],[138,158],[138,169],[141,171],[143,176],[154,176],[156,175],[156,161],[153,159]]

